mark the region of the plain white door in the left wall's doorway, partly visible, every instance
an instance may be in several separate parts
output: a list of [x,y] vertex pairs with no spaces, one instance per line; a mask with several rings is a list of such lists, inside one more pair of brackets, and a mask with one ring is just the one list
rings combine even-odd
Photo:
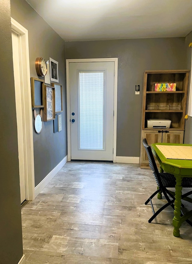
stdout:
[[15,80],[15,101],[16,101],[16,118],[17,118],[17,136],[19,152],[19,178],[21,203],[26,199],[25,190],[25,159],[24,159],[24,142],[23,142],[23,119],[22,119],[22,99],[21,99],[21,79],[19,65],[19,42],[18,35],[12,32],[13,46],[13,70]]

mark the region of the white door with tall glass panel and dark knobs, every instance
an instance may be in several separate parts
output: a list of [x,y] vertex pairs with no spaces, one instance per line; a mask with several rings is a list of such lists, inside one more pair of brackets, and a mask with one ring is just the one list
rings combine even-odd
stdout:
[[72,160],[113,160],[115,62],[70,62]]

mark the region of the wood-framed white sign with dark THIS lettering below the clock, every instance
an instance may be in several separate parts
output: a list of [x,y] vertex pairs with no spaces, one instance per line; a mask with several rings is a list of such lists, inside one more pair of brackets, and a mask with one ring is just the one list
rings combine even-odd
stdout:
[[55,119],[55,87],[45,85],[44,121]]

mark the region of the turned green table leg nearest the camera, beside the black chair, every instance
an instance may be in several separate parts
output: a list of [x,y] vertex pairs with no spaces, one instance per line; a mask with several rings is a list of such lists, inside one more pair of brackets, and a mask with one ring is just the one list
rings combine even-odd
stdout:
[[179,237],[179,228],[181,226],[181,196],[182,196],[182,177],[176,176],[176,186],[175,186],[175,210],[173,218],[173,235]]

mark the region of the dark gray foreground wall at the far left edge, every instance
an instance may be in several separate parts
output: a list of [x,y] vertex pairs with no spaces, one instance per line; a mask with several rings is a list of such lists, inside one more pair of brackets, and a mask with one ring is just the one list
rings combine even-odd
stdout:
[[23,252],[10,0],[0,13],[0,263],[16,264]]

